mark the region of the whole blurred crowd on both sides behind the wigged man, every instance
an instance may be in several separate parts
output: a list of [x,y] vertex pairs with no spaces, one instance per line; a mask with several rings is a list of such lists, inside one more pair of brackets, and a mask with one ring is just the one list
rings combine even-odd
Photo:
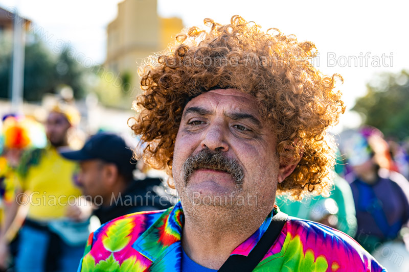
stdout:
[[[90,231],[132,212],[170,207],[161,178],[150,177],[121,136],[100,132],[70,147],[80,115],[58,102],[43,123],[2,120],[0,267],[3,271],[75,271]],[[354,237],[391,271],[409,258],[409,156],[404,143],[373,127],[344,131],[329,197],[298,202],[285,213]]]

